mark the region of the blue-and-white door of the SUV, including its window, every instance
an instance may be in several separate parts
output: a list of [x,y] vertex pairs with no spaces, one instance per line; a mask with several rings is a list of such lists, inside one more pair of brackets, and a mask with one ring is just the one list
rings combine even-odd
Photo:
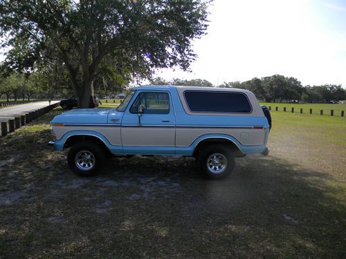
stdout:
[[127,154],[174,154],[175,115],[168,91],[138,91],[121,124]]

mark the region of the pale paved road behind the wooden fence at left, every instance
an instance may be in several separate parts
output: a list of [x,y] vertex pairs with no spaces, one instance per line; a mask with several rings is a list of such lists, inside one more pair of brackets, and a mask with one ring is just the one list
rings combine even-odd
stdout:
[[[59,101],[52,101],[51,104],[55,104]],[[0,108],[0,122],[5,122],[8,119],[16,117],[17,115],[22,115],[30,111],[35,111],[39,108],[44,108],[48,106],[48,101],[44,102],[30,102],[29,104],[19,104],[15,106],[8,106]]]

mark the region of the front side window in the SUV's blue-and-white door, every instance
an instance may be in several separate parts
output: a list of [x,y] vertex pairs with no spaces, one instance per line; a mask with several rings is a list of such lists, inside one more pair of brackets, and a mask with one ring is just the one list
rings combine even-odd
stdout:
[[170,98],[168,93],[140,93],[130,108],[130,113],[138,113],[138,107],[143,106],[143,114],[170,113]]

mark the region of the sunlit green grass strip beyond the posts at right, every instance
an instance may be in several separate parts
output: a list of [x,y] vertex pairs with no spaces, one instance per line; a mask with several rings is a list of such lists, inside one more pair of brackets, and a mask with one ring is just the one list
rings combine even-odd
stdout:
[[341,111],[346,111],[346,104],[281,104],[260,102],[266,106],[271,106],[271,111],[275,112],[275,107],[278,107],[279,111],[283,111],[286,107],[286,112],[291,113],[291,108],[294,108],[295,113],[300,113],[300,108],[303,109],[303,113],[309,113],[310,109],[313,109],[313,114],[320,114],[320,110],[323,110],[324,115],[330,115],[330,111],[334,110],[334,116],[340,116]]

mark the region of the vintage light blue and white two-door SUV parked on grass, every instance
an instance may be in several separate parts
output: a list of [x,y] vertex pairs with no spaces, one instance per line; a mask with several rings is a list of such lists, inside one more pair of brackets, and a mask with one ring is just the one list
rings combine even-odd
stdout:
[[219,179],[233,171],[234,157],[268,155],[267,117],[248,90],[138,86],[118,108],[55,116],[49,144],[71,147],[67,161],[79,175],[95,174],[109,155],[180,155],[195,157],[203,173]]

